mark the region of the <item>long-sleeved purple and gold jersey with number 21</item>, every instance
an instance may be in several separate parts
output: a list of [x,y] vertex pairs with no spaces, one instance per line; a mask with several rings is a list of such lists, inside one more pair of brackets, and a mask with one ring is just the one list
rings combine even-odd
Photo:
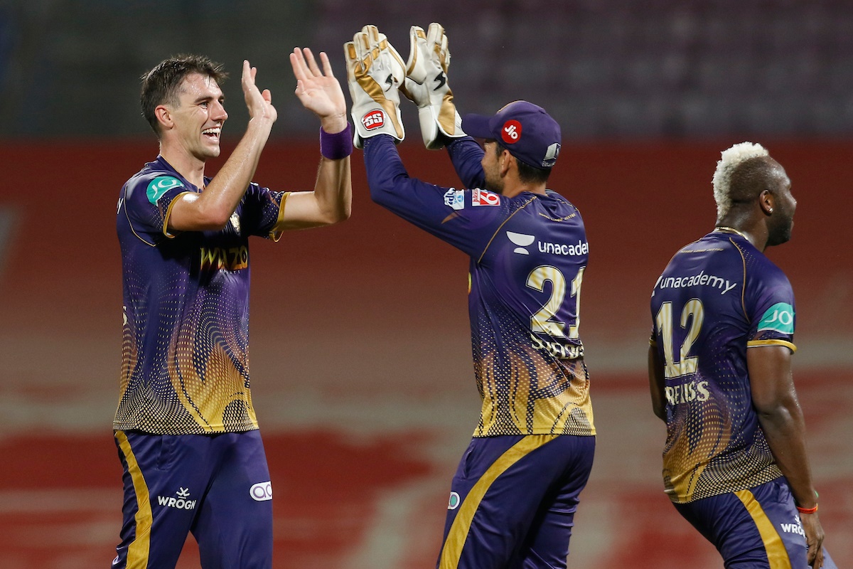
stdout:
[[410,178],[392,139],[364,144],[371,196],[470,258],[468,312],[483,404],[474,437],[594,435],[577,308],[589,245],[565,198],[514,198],[479,189],[483,150],[471,138],[448,147],[463,183]]

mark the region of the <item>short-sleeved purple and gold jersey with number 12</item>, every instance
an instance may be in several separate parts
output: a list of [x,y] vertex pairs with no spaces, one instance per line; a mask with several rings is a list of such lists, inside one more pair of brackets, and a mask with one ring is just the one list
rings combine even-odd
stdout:
[[784,273],[737,232],[683,247],[652,293],[652,345],[664,363],[664,485],[685,503],[779,478],[752,406],[746,350],[794,351]]

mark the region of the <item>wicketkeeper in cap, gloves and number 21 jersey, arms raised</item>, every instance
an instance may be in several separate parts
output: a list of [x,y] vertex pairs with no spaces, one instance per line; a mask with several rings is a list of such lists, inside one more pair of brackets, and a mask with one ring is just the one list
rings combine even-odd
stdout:
[[[470,257],[482,404],[451,483],[437,566],[566,567],[595,427],[579,335],[589,244],[577,208],[547,189],[560,126],[524,101],[460,119],[447,85],[444,29],[413,26],[410,39],[405,66],[375,26],[357,33],[345,53],[371,197]],[[403,81],[421,107],[427,148],[446,146],[466,189],[409,177],[395,147],[403,129],[394,91]],[[374,84],[383,86],[381,96]]]

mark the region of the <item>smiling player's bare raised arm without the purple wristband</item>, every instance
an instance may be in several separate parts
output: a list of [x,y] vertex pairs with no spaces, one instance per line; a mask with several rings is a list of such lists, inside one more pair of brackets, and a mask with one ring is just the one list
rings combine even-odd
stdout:
[[241,84],[250,117],[246,134],[203,192],[187,192],[177,197],[169,214],[170,230],[222,229],[246,193],[278,117],[276,107],[272,106],[270,90],[262,93],[255,84],[257,73],[255,67],[243,61]]

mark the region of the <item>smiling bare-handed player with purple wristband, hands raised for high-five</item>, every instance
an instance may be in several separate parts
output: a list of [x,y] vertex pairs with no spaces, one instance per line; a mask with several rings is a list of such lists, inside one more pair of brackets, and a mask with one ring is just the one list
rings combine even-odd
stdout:
[[213,177],[228,113],[221,67],[181,55],[142,78],[142,114],[160,155],[122,188],[124,285],[119,407],[124,468],[113,567],[174,567],[189,532],[201,566],[272,566],[272,485],[249,382],[249,236],[334,224],[351,206],[351,130],[328,57],[290,56],[296,96],[321,122],[313,191],[252,183],[277,118],[243,62],[246,133]]

